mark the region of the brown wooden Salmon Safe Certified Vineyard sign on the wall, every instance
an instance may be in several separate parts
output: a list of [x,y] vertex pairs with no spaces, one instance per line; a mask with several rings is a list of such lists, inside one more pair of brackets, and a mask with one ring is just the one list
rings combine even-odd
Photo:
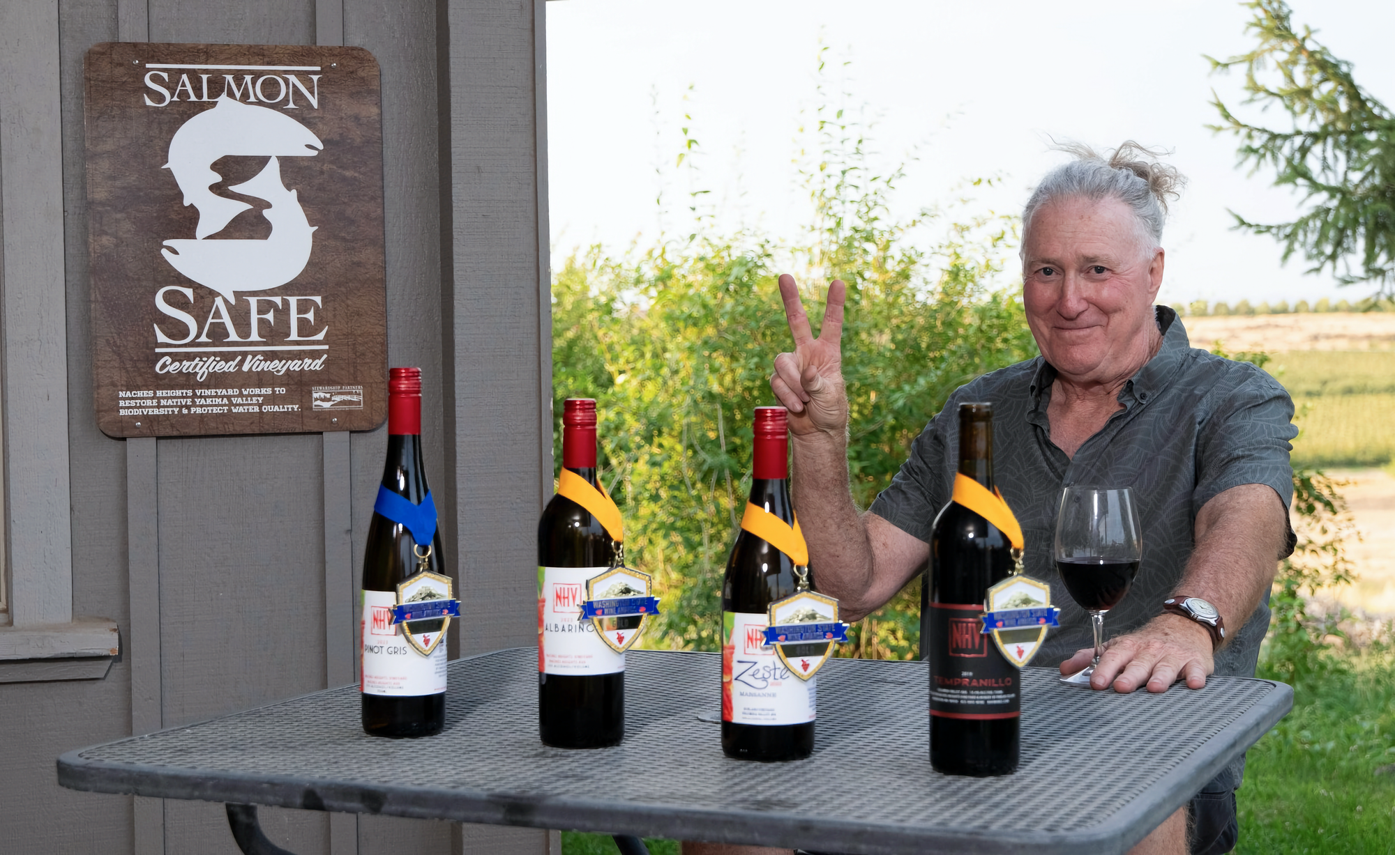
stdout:
[[88,52],[103,433],[382,423],[381,106],[378,63],[360,47]]

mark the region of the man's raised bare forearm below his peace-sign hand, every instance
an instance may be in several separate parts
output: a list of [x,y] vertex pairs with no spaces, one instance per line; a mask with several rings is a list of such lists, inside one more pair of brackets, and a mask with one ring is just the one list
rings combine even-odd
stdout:
[[794,504],[809,544],[819,590],[838,597],[848,620],[880,603],[865,602],[872,585],[873,554],[848,483],[845,436],[792,436]]

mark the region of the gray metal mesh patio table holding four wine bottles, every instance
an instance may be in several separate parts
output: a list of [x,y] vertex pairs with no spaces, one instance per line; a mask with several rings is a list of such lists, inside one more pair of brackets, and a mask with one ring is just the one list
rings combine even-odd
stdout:
[[1212,677],[1200,691],[1092,692],[1023,674],[1021,766],[943,776],[928,759],[928,667],[833,660],[813,756],[731,760],[714,653],[628,654],[625,741],[537,738],[537,652],[449,666],[445,731],[363,732],[359,688],[73,751],[74,790],[830,852],[1123,852],[1290,707],[1289,687]]

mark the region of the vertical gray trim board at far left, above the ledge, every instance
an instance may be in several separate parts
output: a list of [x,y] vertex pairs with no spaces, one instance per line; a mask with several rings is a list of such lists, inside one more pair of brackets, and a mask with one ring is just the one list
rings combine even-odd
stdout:
[[73,620],[56,0],[0,3],[6,531],[17,627]]

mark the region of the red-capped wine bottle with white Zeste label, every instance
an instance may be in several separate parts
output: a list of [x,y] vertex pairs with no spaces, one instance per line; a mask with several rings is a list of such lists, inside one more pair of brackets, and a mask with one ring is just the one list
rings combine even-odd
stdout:
[[[757,407],[751,504],[794,525],[788,414]],[[812,571],[809,585],[813,585]],[[813,753],[817,677],[795,677],[764,643],[770,603],[795,592],[794,561],[742,529],[721,583],[721,751],[741,760],[798,760]],[[792,652],[799,654],[799,652]]]

